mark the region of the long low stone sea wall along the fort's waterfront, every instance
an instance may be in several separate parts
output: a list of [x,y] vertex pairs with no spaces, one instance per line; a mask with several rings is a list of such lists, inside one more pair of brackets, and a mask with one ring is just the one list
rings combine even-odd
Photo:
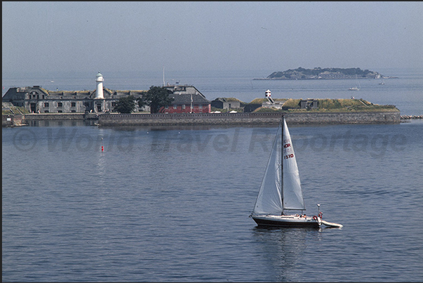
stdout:
[[[398,111],[387,112],[259,112],[191,114],[22,114],[4,115],[3,126],[36,125],[38,121],[85,121],[98,126],[277,125],[285,115],[288,124],[399,124]],[[5,117],[7,116],[7,117]]]

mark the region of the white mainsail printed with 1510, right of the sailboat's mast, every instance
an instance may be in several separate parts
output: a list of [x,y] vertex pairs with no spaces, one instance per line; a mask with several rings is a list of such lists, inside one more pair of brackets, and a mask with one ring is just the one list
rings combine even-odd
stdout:
[[283,117],[283,209],[305,210],[293,143]]

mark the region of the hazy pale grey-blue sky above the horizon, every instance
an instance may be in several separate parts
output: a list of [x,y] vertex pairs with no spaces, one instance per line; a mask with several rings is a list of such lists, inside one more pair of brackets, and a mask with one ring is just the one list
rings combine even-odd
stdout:
[[423,67],[422,2],[2,2],[2,71]]

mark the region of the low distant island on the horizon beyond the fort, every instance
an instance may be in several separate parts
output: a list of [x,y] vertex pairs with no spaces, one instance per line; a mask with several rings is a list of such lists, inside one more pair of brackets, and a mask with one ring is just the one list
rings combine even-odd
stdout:
[[324,68],[304,69],[273,72],[265,79],[381,79],[384,77],[379,72],[361,70],[360,68]]

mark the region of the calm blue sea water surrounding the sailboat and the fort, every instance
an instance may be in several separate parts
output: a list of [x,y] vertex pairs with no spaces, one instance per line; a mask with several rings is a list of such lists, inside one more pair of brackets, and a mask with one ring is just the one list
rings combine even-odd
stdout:
[[[229,93],[248,101],[265,85],[232,79],[197,88],[227,97],[248,81]],[[264,88],[277,97],[276,85]],[[368,100],[401,110],[398,96]],[[248,218],[274,127],[38,125],[2,129],[4,282],[422,281],[423,121],[290,127],[307,214],[321,204],[323,219],[344,225],[321,230],[267,230]]]

